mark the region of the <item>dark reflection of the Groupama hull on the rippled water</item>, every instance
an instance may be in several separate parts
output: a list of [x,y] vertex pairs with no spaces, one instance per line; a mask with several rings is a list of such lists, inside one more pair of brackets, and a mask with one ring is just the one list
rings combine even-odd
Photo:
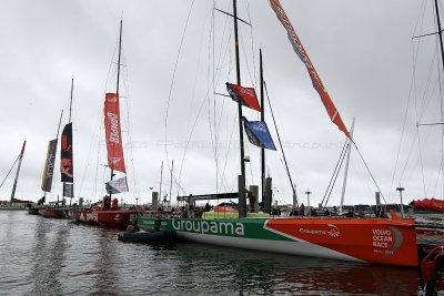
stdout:
[[179,246],[176,258],[182,261],[178,267],[181,286],[189,285],[198,293],[416,295],[418,290],[414,268],[193,244]]

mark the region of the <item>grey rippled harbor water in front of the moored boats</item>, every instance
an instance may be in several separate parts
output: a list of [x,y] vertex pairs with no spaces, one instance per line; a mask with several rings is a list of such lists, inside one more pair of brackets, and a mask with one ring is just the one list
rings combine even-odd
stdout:
[[414,268],[180,243],[0,211],[0,295],[418,295]]

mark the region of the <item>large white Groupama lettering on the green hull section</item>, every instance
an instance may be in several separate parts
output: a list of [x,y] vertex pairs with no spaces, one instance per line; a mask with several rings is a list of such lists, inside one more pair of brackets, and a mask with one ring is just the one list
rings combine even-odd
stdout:
[[199,220],[173,220],[172,226],[176,231],[244,236],[245,231],[242,223],[234,222],[208,222]]

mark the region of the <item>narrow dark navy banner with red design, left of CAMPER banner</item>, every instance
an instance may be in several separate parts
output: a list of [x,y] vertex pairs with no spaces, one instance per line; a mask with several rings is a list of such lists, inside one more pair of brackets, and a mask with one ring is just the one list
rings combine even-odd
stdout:
[[[61,182],[74,182],[72,167],[72,123],[64,125],[60,139],[60,175]],[[65,195],[67,196],[67,195]]]

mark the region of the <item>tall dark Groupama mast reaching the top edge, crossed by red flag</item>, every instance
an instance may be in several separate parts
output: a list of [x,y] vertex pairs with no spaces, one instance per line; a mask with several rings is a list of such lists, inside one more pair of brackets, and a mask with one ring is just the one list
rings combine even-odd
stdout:
[[[235,50],[235,61],[236,61],[236,78],[238,85],[241,85],[241,64],[239,60],[239,33],[238,33],[238,1],[233,0],[233,20],[234,20],[234,50]],[[238,101],[238,113],[239,113],[239,143],[241,149],[241,175],[243,180],[242,186],[245,188],[245,155],[243,149],[243,127],[242,127],[242,103]],[[245,200],[245,191],[241,192],[239,198]]]

